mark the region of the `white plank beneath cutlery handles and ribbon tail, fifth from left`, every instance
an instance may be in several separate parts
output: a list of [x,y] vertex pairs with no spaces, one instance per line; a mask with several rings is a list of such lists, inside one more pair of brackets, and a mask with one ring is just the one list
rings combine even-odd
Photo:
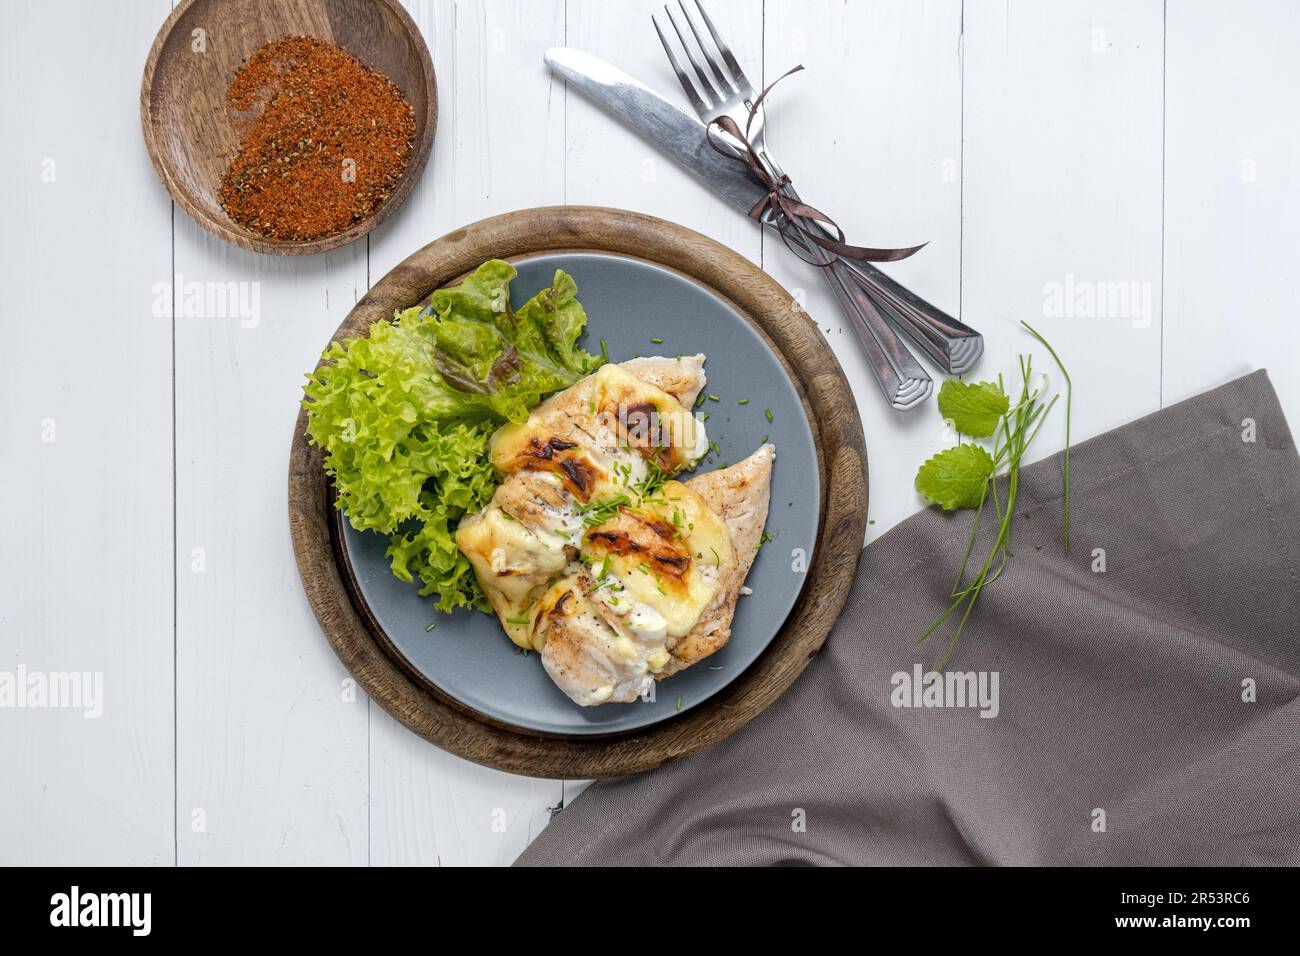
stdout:
[[[781,165],[805,199],[840,222],[850,242],[928,241],[919,254],[885,271],[956,312],[962,4],[768,0],[766,20],[768,79],[796,64],[807,66],[770,96],[768,144]],[[911,412],[888,407],[852,326],[816,271],[779,242],[768,239],[766,250],[764,268],[805,300],[853,385],[871,471],[880,476],[871,483],[871,540],[919,510],[910,476],[949,440],[933,403]],[[984,332],[991,324],[980,310],[968,311],[967,321]],[[996,354],[984,368],[992,358]]]

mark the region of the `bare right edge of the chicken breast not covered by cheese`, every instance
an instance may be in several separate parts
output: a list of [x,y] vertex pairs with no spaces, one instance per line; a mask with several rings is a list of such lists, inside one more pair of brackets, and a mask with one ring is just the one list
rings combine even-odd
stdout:
[[711,507],[731,535],[734,563],[724,567],[714,600],[699,620],[672,646],[672,659],[655,674],[666,678],[708,657],[731,639],[736,600],[749,568],[758,557],[758,542],[767,524],[767,503],[772,494],[772,462],[776,449],[762,445],[758,451],[729,468],[698,475],[686,483]]

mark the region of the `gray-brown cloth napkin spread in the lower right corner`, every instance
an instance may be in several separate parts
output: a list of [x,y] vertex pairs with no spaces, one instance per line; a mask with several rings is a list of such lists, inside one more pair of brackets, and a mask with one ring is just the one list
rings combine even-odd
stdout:
[[593,784],[519,864],[1300,862],[1300,459],[1266,373],[1075,447],[1069,555],[1061,471],[1020,472],[952,706],[915,693],[950,630],[916,637],[971,515],[930,510],[776,704]]

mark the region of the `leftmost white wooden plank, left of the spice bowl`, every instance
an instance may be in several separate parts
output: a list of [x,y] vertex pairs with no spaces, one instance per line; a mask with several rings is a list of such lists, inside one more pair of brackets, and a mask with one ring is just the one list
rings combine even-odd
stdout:
[[0,680],[98,675],[0,709],[0,865],[174,858],[170,204],[138,113],[166,12],[18,4],[0,36]]

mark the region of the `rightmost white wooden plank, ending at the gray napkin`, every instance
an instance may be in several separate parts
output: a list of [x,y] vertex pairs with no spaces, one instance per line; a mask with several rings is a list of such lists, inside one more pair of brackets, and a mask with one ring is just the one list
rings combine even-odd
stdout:
[[1169,4],[1166,403],[1265,367],[1282,407],[1300,410],[1296,49],[1295,4]]

